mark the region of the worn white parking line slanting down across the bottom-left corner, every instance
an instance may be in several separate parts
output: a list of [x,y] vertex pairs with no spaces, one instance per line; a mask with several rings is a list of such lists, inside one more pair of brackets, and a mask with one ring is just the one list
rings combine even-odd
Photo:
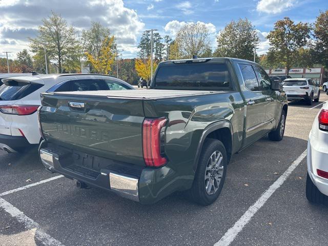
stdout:
[[36,228],[35,237],[47,246],[64,246],[63,243],[52,238],[49,234],[40,229],[38,223],[27,217],[22,211],[15,208],[11,203],[0,197],[0,208],[3,208],[12,217],[16,218],[20,223],[23,223],[28,230]]

